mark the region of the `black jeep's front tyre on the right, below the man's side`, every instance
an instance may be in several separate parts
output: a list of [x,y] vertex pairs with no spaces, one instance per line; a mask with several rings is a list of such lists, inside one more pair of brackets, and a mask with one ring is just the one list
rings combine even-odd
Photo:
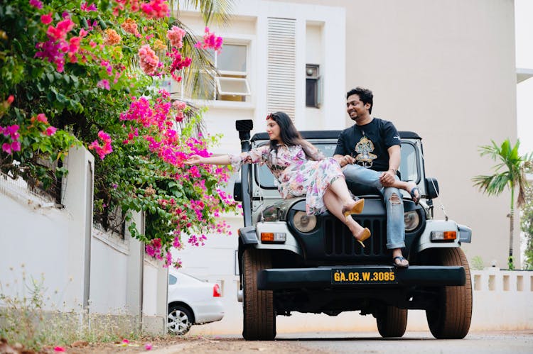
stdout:
[[463,266],[466,282],[462,286],[438,289],[436,307],[426,310],[429,330],[437,339],[464,338],[472,319],[472,282],[468,260],[461,248],[441,248],[435,258],[438,265]]

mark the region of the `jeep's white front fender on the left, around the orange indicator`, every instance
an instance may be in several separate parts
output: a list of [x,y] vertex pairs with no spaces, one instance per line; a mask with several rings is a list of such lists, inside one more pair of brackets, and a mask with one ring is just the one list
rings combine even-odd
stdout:
[[[262,232],[284,233],[286,240],[284,243],[261,243]],[[257,223],[255,226],[246,226],[239,228],[239,239],[243,248],[254,247],[261,250],[289,250],[303,256],[302,249],[298,241],[292,235],[285,221],[264,221]]]

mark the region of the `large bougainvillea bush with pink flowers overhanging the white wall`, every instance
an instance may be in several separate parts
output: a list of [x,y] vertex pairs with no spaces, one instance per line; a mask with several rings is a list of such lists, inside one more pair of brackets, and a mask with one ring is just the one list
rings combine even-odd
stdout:
[[[183,165],[217,137],[193,133],[202,111],[161,89],[194,64],[183,47],[194,37],[170,8],[163,0],[1,2],[0,169],[45,189],[53,179],[43,161],[85,145],[97,161],[95,220],[106,227],[117,210],[121,222],[144,211],[146,231],[132,225],[131,234],[177,265],[170,249],[181,247],[181,234],[200,245],[207,233],[227,232],[217,216],[236,206],[220,189],[226,168]],[[205,28],[189,50],[221,46]],[[58,166],[60,178],[68,171]]]

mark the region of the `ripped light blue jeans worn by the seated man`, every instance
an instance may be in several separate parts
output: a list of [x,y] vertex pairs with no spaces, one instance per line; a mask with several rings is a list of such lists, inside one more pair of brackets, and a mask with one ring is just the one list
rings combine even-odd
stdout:
[[[394,187],[383,187],[379,182],[382,172],[370,170],[360,165],[346,165],[343,173],[347,182],[375,187],[382,194],[387,209],[387,248],[405,247],[404,202],[402,193]],[[398,180],[398,176],[396,176]],[[394,197],[396,194],[396,197]]]

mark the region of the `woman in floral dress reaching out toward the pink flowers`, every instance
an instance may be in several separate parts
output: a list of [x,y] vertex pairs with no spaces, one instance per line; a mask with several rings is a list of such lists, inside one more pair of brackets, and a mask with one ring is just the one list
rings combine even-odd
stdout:
[[352,198],[339,163],[333,158],[325,158],[316,147],[303,140],[284,112],[266,117],[266,133],[269,134],[270,145],[239,155],[191,155],[185,164],[232,165],[238,169],[243,163],[266,163],[279,182],[281,197],[288,199],[305,195],[307,214],[321,214],[328,209],[365,247],[362,242],[370,237],[370,230],[360,226],[351,216],[362,212],[365,200],[355,201]]

